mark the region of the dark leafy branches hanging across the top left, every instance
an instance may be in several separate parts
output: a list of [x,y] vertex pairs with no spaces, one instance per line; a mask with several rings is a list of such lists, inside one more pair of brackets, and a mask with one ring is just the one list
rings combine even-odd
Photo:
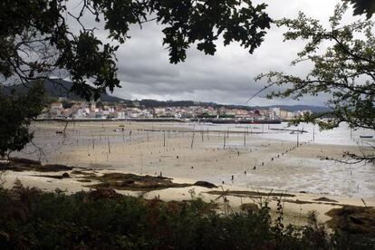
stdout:
[[[206,54],[216,53],[219,37],[225,45],[238,42],[253,53],[272,22],[265,7],[248,0],[4,0],[0,75],[30,82],[60,73],[72,78],[71,91],[99,98],[101,92],[120,87],[119,45],[113,42],[125,43],[132,24],[162,24],[169,62],[179,63],[192,44]],[[95,28],[86,27],[84,20],[91,17],[104,24],[111,43],[103,43]],[[71,29],[71,21],[80,32]]]

